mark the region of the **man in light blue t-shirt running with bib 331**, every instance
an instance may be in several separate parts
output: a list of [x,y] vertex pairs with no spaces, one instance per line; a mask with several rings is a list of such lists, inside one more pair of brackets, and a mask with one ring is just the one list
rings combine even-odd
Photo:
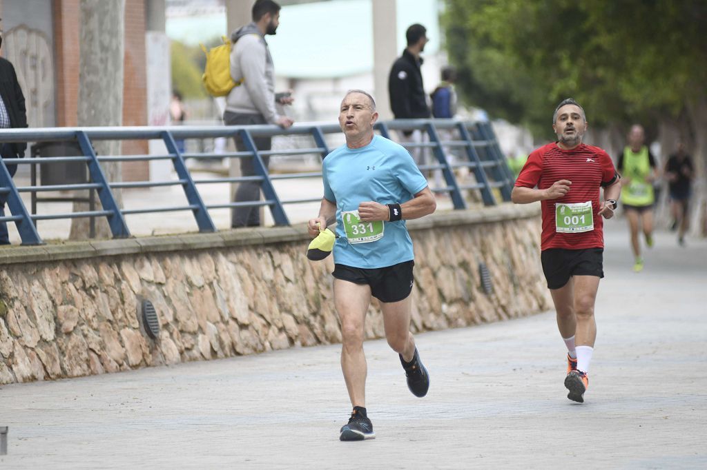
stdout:
[[308,229],[315,237],[337,222],[334,304],[341,319],[341,369],[354,411],[339,439],[375,438],[366,414],[363,337],[371,296],[380,301],[385,337],[400,357],[407,385],[424,397],[430,384],[410,333],[414,254],[405,220],[435,211],[427,181],[404,147],[373,133],[373,97],[350,90],[341,101],[339,125],[346,145],[322,164],[324,198]]

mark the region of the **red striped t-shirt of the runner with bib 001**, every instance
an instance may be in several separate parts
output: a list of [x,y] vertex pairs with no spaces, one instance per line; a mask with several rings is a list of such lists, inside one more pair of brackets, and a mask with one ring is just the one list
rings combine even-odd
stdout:
[[[520,171],[515,186],[547,189],[555,181],[572,181],[570,190],[561,198],[543,200],[542,237],[540,249],[604,248],[604,222],[599,215],[599,188],[602,183],[614,179],[616,169],[611,157],[599,147],[580,144],[572,150],[563,150],[550,143],[534,150]],[[592,202],[594,229],[581,233],[559,233],[555,231],[555,203]]]

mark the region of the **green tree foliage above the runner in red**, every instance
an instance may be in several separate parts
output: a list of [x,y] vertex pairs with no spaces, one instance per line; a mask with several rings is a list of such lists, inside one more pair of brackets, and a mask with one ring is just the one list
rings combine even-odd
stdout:
[[462,94],[547,135],[568,96],[593,126],[677,116],[704,94],[706,11],[702,0],[449,0],[443,23]]

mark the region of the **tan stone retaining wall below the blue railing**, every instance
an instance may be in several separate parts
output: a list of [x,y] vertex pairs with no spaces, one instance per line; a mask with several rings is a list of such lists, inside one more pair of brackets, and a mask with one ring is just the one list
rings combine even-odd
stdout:
[[[538,212],[501,205],[409,222],[412,330],[549,308]],[[0,384],[340,342],[333,260],[307,260],[308,240],[284,227],[0,250]],[[156,308],[158,339],[141,325],[142,299]],[[383,336],[375,300],[366,333]]]

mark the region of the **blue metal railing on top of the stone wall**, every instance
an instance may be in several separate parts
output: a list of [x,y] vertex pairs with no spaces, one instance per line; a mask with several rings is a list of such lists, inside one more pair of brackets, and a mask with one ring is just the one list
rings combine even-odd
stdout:
[[[508,169],[498,141],[488,122],[468,122],[455,119],[411,119],[385,121],[375,124],[375,130],[386,138],[392,138],[391,131],[419,130],[426,139],[418,143],[404,143],[409,150],[421,148],[430,149],[436,159],[434,164],[420,165],[424,171],[441,171],[445,186],[433,188],[436,193],[448,193],[455,209],[467,207],[464,191],[479,191],[484,205],[495,205],[496,197],[493,188],[498,188],[503,200],[510,200],[513,186],[513,175]],[[445,139],[440,136],[443,131]],[[189,210],[192,212],[197,227],[201,232],[216,231],[216,226],[209,215],[209,209],[233,207],[267,206],[271,211],[276,225],[288,225],[288,217],[284,205],[294,203],[317,202],[321,198],[303,198],[281,200],[273,181],[278,179],[311,178],[321,176],[321,172],[296,174],[269,174],[262,157],[270,155],[320,155],[323,159],[329,153],[325,135],[340,133],[337,124],[301,123],[288,129],[278,126],[209,126],[209,127],[94,127],[94,128],[37,128],[37,129],[1,129],[0,143],[5,142],[42,142],[42,141],[74,141],[78,142],[83,157],[30,157],[23,159],[4,159],[0,164],[0,198],[6,198],[11,215],[0,217],[0,221],[15,222],[23,245],[43,243],[37,233],[35,222],[45,219],[71,219],[76,217],[106,217],[114,238],[130,236],[125,222],[125,215],[153,212],[169,212]],[[182,153],[177,149],[175,139],[235,137],[239,135],[245,144],[246,151],[227,153]],[[275,135],[308,135],[316,147],[292,148],[286,150],[259,150],[255,146],[254,137],[271,137]],[[451,140],[450,140],[451,139]],[[95,140],[162,140],[168,150],[168,155],[107,155],[98,156],[93,149]],[[450,161],[450,152],[457,154],[455,162]],[[459,156],[462,158],[459,158]],[[224,177],[195,180],[187,169],[186,158],[252,158],[254,160],[255,176]],[[465,158],[464,158],[465,157]],[[131,162],[170,160],[173,164],[176,181],[108,181],[101,162]],[[13,182],[6,164],[57,164],[66,162],[86,162],[88,168],[88,183],[58,184],[52,186],[21,186]],[[455,176],[455,169],[469,169],[476,183],[460,185]],[[197,185],[209,183],[242,183],[257,181],[264,195],[264,200],[240,201],[206,205],[202,200]],[[141,207],[139,209],[124,209],[119,207],[113,190],[118,188],[153,188],[159,186],[182,186],[187,198],[187,205],[168,207]],[[102,205],[101,210],[68,212],[59,214],[30,214],[21,193],[37,193],[40,191],[95,190]]]

